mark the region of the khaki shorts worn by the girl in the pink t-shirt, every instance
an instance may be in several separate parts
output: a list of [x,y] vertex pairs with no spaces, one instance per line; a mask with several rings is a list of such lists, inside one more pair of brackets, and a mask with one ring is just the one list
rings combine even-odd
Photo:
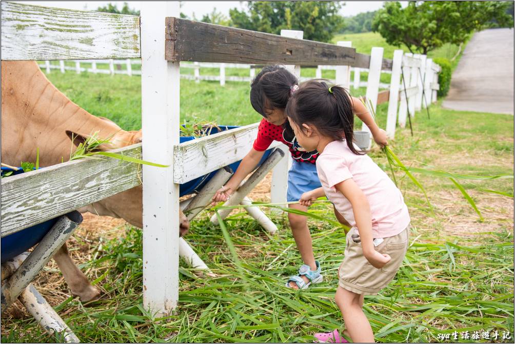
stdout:
[[384,238],[384,241],[375,247],[380,253],[387,253],[391,257],[381,269],[374,268],[363,255],[361,242],[355,243],[352,234],[358,234],[353,227],[347,233],[347,246],[345,258],[339,269],[339,286],[356,294],[376,295],[395,277],[399,270],[409,242],[409,225],[401,233]]

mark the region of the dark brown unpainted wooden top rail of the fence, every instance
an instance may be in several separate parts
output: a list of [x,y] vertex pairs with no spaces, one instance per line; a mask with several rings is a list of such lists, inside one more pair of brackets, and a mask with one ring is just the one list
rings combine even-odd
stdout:
[[[370,56],[334,44],[287,38],[271,33],[166,18],[168,61],[254,64],[350,65],[368,68]],[[383,62],[391,70],[391,60]]]

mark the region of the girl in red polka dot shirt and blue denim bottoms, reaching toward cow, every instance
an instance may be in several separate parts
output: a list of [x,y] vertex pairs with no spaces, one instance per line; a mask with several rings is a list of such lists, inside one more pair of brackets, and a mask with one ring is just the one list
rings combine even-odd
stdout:
[[[273,141],[279,141],[288,146],[291,158],[293,158],[293,164],[288,171],[287,201],[298,201],[301,196],[303,199],[324,196],[316,194],[316,189],[320,190],[321,188],[315,166],[319,154],[316,150],[306,151],[297,143],[284,113],[288,99],[297,89],[297,78],[282,65],[264,67],[252,81],[250,102],[254,110],[264,118],[259,125],[258,137],[256,137],[252,149],[243,158],[227,184],[216,192],[213,197],[214,202],[226,201],[237,190],[238,185],[254,170],[265,150]],[[353,98],[353,106],[356,116],[369,127],[374,141],[377,144],[386,145],[386,132],[377,127],[362,102]],[[307,207],[301,204],[289,204],[289,207],[307,211]],[[339,219],[345,220],[336,210],[335,214]],[[301,265],[298,275],[291,276],[288,279],[286,286],[303,289],[312,283],[321,282],[323,277],[320,272],[320,264],[315,261],[313,254],[311,234],[307,228],[306,217],[288,213],[288,220],[304,264]]]

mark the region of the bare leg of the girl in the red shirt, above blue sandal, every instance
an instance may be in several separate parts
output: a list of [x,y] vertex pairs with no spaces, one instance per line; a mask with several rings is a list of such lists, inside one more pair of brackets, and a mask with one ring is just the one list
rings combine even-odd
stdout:
[[[306,212],[307,207],[300,204],[290,204],[289,208],[297,209]],[[315,271],[317,266],[315,264],[315,256],[313,255],[313,245],[311,241],[310,230],[307,228],[307,220],[305,216],[288,213],[288,220],[291,226],[291,233],[297,244],[297,249],[300,252],[304,264],[309,265],[311,270]],[[307,277],[302,276],[304,282],[309,282]],[[290,287],[298,289],[295,282],[290,282]]]

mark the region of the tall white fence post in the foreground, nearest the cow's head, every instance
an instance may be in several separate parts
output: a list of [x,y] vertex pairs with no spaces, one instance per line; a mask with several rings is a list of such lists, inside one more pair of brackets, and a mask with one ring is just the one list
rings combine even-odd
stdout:
[[179,296],[179,184],[174,145],[179,144],[179,62],[164,59],[165,17],[179,2],[149,2],[141,15],[143,159],[143,304],[169,315]]

